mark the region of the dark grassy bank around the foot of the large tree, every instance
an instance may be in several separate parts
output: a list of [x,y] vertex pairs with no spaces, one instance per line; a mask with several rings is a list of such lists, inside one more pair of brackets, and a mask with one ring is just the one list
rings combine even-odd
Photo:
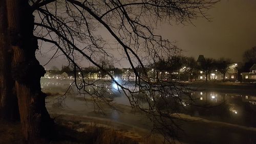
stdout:
[[[124,132],[110,128],[98,127],[97,125],[81,124],[80,121],[66,121],[58,119],[56,121],[56,135],[48,143],[60,144],[137,144],[139,139],[128,137]],[[19,123],[0,121],[0,144],[20,144],[23,143],[20,134]]]

